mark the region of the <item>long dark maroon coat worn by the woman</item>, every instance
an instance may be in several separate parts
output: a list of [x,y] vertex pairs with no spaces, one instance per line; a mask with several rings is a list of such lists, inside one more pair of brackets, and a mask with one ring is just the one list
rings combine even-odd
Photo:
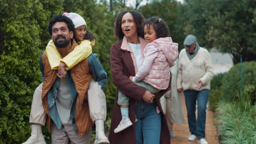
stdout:
[[[112,45],[110,50],[111,57],[111,72],[114,84],[120,89],[123,93],[127,94],[130,97],[129,103],[129,117],[133,125],[117,134],[114,133],[114,129],[117,128],[121,120],[120,106],[117,104],[118,93],[115,97],[112,121],[109,131],[109,141],[111,144],[135,144],[135,111],[136,111],[136,100],[142,100],[142,95],[146,92],[146,89],[143,87],[137,86],[133,83],[129,76],[135,76],[135,67],[133,65],[131,53],[127,50],[121,49],[121,44],[123,40],[120,40],[118,43]],[[168,89],[170,89],[171,81]],[[170,144],[170,132],[168,131],[166,117],[163,114],[162,107],[160,105],[159,99],[168,91],[160,91],[156,93],[156,104],[161,110],[162,116],[162,125],[161,125],[161,144]],[[118,91],[117,90],[117,91]]]

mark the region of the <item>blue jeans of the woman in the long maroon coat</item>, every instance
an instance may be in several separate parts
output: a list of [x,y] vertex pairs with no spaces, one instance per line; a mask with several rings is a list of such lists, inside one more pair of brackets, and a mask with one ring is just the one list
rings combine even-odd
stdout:
[[156,103],[137,101],[136,144],[160,143],[161,113],[156,112]]

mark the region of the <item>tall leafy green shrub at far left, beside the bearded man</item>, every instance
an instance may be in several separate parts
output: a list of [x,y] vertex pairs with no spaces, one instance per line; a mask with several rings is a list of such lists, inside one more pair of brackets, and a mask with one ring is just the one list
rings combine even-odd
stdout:
[[0,5],[0,143],[19,143],[30,133],[28,115],[40,81],[38,22],[47,20],[39,1]]

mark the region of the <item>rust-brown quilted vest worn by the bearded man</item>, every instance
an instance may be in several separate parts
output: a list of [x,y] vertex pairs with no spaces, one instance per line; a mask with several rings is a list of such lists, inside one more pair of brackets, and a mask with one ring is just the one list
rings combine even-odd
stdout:
[[[72,49],[77,46],[77,43],[73,41]],[[42,64],[44,67],[44,82],[43,82],[43,92],[42,92],[42,102],[44,111],[47,116],[46,124],[50,129],[50,115],[48,110],[48,101],[47,101],[47,93],[49,89],[53,86],[54,81],[57,78],[57,70],[52,70],[48,61],[45,52],[42,55]],[[71,70],[71,77],[75,84],[75,89],[78,93],[78,97],[75,104],[75,125],[77,126],[78,134],[83,135],[86,131],[90,129],[90,127],[94,124],[91,121],[88,101],[86,100],[86,92],[88,90],[90,81],[92,76],[89,74],[89,65],[88,58],[84,61],[75,65]]]

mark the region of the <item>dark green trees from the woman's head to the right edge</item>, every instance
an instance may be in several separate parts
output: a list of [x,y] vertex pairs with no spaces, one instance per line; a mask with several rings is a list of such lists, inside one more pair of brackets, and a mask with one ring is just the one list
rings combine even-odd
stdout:
[[234,63],[255,61],[256,2],[253,0],[152,0],[139,10],[146,18],[159,16],[170,27],[173,41],[182,49],[187,34],[200,46],[216,47],[234,56]]

